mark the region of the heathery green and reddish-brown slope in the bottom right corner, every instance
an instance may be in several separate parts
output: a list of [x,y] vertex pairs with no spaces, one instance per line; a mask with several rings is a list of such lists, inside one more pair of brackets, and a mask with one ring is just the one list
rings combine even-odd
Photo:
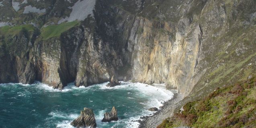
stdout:
[[217,88],[203,100],[188,102],[182,112],[167,118],[157,128],[256,127],[256,77]]

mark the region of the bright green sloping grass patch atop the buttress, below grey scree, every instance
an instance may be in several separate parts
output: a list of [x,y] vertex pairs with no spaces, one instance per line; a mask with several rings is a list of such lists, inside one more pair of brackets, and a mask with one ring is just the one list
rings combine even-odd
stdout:
[[80,22],[76,20],[73,22],[64,22],[58,25],[49,25],[42,29],[41,37],[43,38],[43,40],[47,40],[52,37],[59,37],[61,33],[79,24]]

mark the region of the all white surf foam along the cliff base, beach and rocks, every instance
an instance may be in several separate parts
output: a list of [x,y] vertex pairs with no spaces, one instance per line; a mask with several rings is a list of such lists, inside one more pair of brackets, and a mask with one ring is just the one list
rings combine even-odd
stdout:
[[[160,106],[162,106],[162,103],[164,103],[165,101],[171,99],[173,97],[173,93],[171,91],[168,91],[165,89],[165,85],[164,84],[154,84],[154,86],[152,85],[147,85],[147,84],[143,84],[143,83],[130,83],[130,82],[123,82],[121,81],[121,85],[119,86],[115,86],[115,87],[106,87],[106,83],[101,83],[101,84],[95,84],[95,85],[91,85],[89,87],[76,87],[74,85],[74,83],[69,83],[66,87],[63,88],[63,90],[58,90],[58,89],[53,89],[53,87],[50,87],[46,84],[40,83],[38,81],[36,81],[34,84],[32,84],[33,86],[39,88],[39,89],[44,89],[46,91],[50,91],[50,92],[67,92],[67,91],[74,91],[75,93],[73,95],[79,95],[79,93],[83,93],[84,91],[93,91],[93,90],[98,90],[98,89],[102,89],[102,90],[115,90],[115,89],[122,89],[122,90],[127,90],[127,94],[129,95],[129,99],[134,100],[134,98],[136,97],[136,95],[138,95],[141,98],[146,98],[147,101],[143,101],[140,104],[143,104],[144,106],[144,110],[141,114],[139,114],[138,116],[135,117],[130,117],[130,118],[124,118],[121,120],[118,120],[117,122],[115,122],[115,125],[112,128],[117,128],[117,127],[121,127],[123,126],[123,124],[126,124],[126,128],[137,128],[139,126],[139,122],[135,122],[135,120],[141,120],[140,117],[141,116],[148,116],[149,114],[153,114],[154,112],[148,111],[149,108],[152,107],[156,107],[159,108]],[[22,83],[5,83],[5,84],[0,84],[0,85],[22,85],[22,86],[29,86],[29,84],[22,84]],[[137,90],[139,91],[134,92],[133,95],[131,95],[131,93],[129,91],[134,91]],[[18,96],[23,96],[23,94],[19,93],[20,95]],[[135,95],[135,97],[134,97]],[[90,99],[89,99],[90,100]],[[92,100],[90,100],[90,102],[93,102]],[[120,106],[125,106],[124,104],[120,105]],[[101,122],[102,118],[104,118],[104,112],[106,112],[106,110],[101,110],[100,112],[97,113],[97,115],[95,115],[95,119],[96,119],[96,123],[98,127],[102,127],[102,126],[108,126],[108,123],[103,123]],[[51,115],[51,118],[61,118],[62,121],[61,122],[57,122],[57,128],[73,128],[70,123],[72,122],[72,120],[74,120],[75,118],[77,118],[79,116],[79,114],[65,114],[65,113],[61,113],[61,112],[51,112],[49,113],[49,115]],[[124,116],[129,117],[128,115],[131,115],[129,112],[125,113]]]

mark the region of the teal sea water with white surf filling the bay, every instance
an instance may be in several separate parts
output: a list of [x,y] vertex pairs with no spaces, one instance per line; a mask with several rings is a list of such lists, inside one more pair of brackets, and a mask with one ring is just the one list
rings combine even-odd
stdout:
[[[0,128],[72,128],[70,122],[84,107],[94,111],[98,128],[136,128],[140,116],[152,114],[151,107],[172,98],[163,87],[142,83],[122,83],[113,88],[107,83],[75,87],[62,91],[42,83],[0,84]],[[129,86],[130,85],[130,86]],[[103,123],[104,112],[117,108],[119,121]]]

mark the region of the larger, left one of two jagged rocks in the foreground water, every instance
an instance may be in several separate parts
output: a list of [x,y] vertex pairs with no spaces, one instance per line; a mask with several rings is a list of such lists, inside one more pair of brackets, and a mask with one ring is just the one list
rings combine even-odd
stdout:
[[92,109],[84,108],[80,116],[70,124],[76,128],[96,128],[96,120]]

